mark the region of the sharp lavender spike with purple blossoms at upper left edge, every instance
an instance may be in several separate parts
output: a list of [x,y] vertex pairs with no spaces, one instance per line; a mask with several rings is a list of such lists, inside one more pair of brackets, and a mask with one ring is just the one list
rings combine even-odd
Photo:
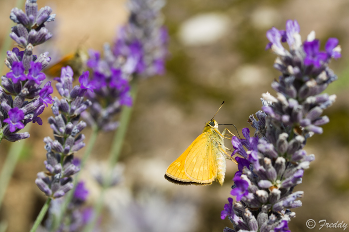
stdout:
[[48,65],[51,58],[48,57],[48,52],[40,54],[39,57],[33,55],[34,46],[52,36],[45,28],[47,22],[54,20],[55,15],[50,15],[51,11],[49,6],[38,11],[36,0],[25,2],[25,13],[18,8],[11,10],[10,19],[17,25],[12,27],[10,37],[24,51],[19,51],[18,48],[7,51],[5,65],[10,72],[1,77],[3,87],[0,87],[0,141],[6,139],[14,142],[28,138],[29,133],[17,132],[29,122],[42,125],[38,115],[47,104],[52,103],[51,82],[40,87],[46,78],[41,70]]

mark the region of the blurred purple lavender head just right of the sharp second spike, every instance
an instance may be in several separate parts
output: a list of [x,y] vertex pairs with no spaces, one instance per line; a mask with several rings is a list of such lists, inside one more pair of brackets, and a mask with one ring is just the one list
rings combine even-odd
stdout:
[[115,55],[107,45],[104,49],[103,59],[99,52],[89,52],[91,58],[87,65],[93,71],[92,79],[86,75],[79,78],[85,89],[93,89],[93,92],[85,93],[92,102],[92,107],[88,112],[84,112],[82,117],[91,126],[96,125],[103,131],[111,131],[118,126],[115,116],[120,112],[121,106],[132,105],[129,84],[131,74],[125,72],[126,64],[120,62],[123,60],[120,56]]

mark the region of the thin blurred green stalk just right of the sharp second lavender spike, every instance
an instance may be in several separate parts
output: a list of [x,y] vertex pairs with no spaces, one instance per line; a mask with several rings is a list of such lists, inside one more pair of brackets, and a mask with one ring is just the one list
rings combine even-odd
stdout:
[[[94,147],[94,144],[96,142],[97,139],[97,135],[98,135],[98,128],[95,126],[92,128],[92,134],[91,137],[89,139],[89,141],[87,142],[87,147],[86,147],[86,151],[85,154],[82,156],[81,161],[80,161],[80,168],[83,169],[86,163],[87,158],[90,156],[92,149]],[[79,171],[78,173],[75,174],[74,176],[74,188],[71,189],[64,197],[64,201],[62,203],[62,207],[60,209],[59,215],[57,216],[57,218],[54,219],[52,227],[51,227],[51,232],[56,231],[59,227],[59,225],[61,224],[62,220],[63,220],[63,215],[68,207],[69,202],[71,202],[71,199],[73,198],[73,194],[77,185],[77,182],[79,180],[79,176],[80,176],[81,171]]]

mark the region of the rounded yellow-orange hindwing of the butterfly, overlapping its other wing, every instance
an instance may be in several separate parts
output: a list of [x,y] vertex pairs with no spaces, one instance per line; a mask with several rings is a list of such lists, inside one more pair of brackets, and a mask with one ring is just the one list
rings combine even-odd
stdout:
[[202,133],[200,139],[192,146],[184,164],[186,176],[200,184],[209,185],[217,177],[216,155],[218,148],[210,138],[210,133]]

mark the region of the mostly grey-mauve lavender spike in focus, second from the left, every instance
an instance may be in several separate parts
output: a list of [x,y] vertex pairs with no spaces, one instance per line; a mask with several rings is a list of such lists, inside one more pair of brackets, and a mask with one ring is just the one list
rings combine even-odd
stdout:
[[[88,75],[85,72],[81,77],[88,78]],[[85,136],[79,133],[86,123],[79,121],[80,114],[91,105],[89,100],[84,100],[89,83],[73,87],[73,70],[69,66],[62,68],[61,77],[55,79],[58,81],[56,88],[62,96],[62,99],[53,98],[51,108],[55,117],[48,118],[55,140],[44,138],[47,172],[39,172],[35,180],[39,189],[52,198],[62,197],[73,188],[71,176],[80,170],[80,163],[74,159],[74,153],[85,146]]]

